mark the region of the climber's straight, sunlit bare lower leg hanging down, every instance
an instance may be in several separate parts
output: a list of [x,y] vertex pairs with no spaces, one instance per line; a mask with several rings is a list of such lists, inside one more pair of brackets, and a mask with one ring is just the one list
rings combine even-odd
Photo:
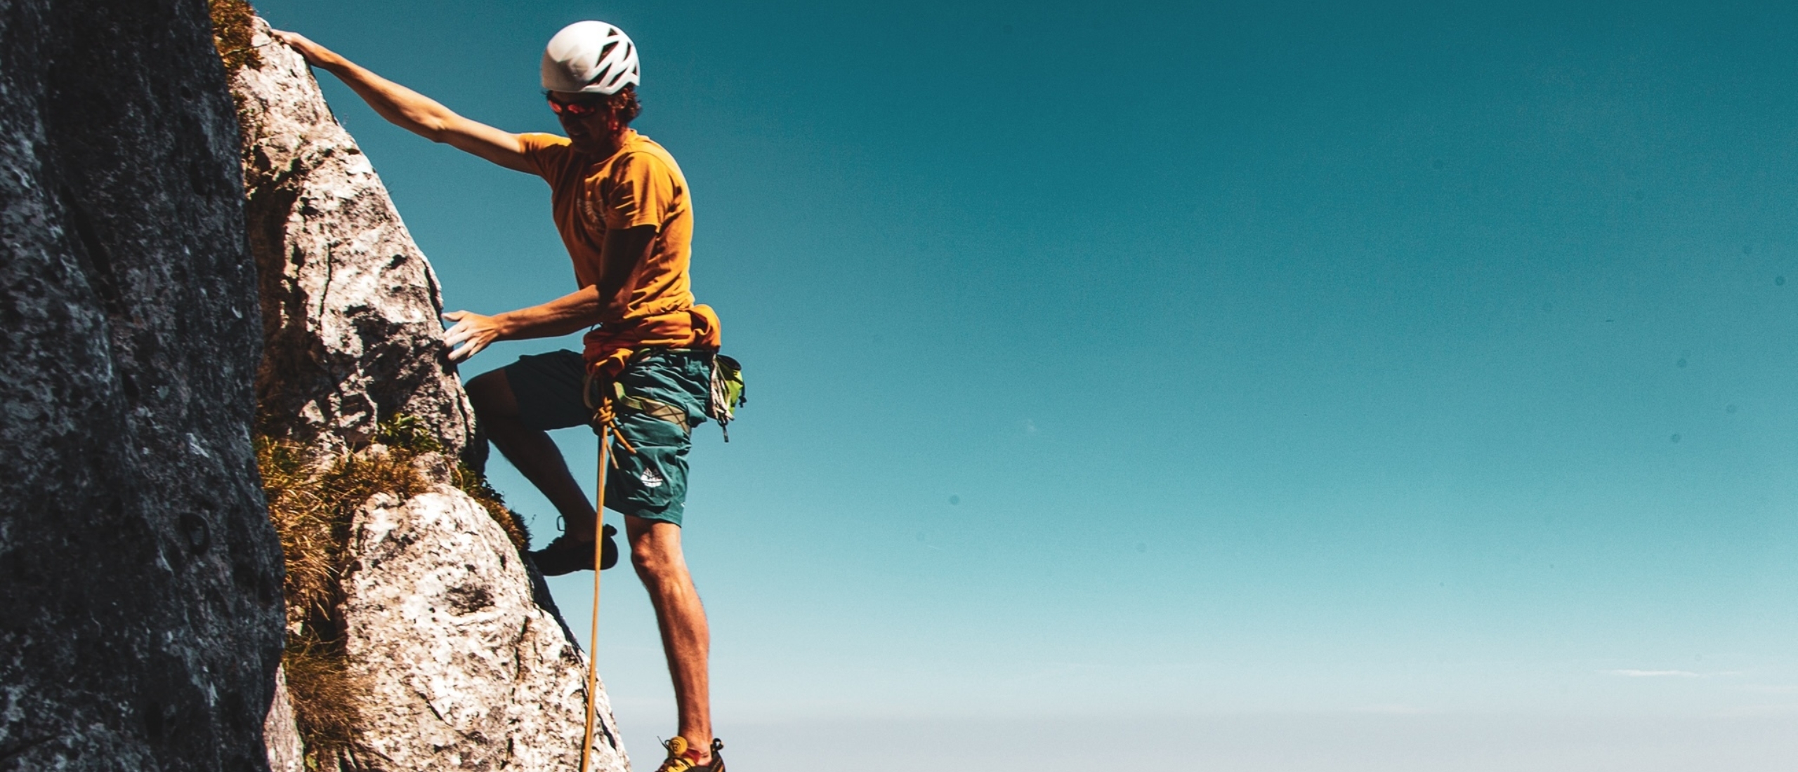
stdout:
[[701,765],[712,763],[712,695],[707,679],[712,632],[705,623],[699,591],[687,575],[680,526],[624,515],[624,531],[631,539],[631,566],[649,591],[649,603],[656,607],[662,650],[667,652],[669,675],[674,679],[680,736],[687,738],[689,747],[703,750]]

